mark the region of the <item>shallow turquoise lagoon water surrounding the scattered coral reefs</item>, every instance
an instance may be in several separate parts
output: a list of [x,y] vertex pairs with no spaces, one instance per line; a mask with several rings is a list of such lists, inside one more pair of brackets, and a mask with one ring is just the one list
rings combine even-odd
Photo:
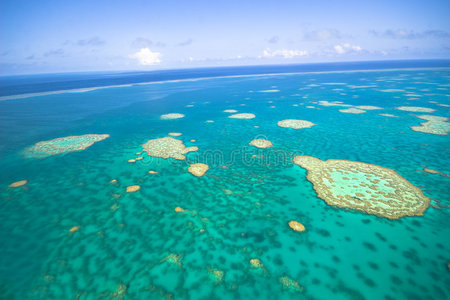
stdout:
[[[450,104],[449,78],[449,69],[305,73],[1,101],[0,298],[448,299],[450,178],[423,169],[450,174],[450,137],[411,130],[425,113],[395,107],[450,117],[438,105]],[[347,107],[320,100],[383,109],[341,113]],[[225,109],[256,117],[229,119]],[[185,118],[159,118],[167,113]],[[278,127],[283,119],[317,125]],[[199,150],[186,161],[144,153],[128,163],[169,132]],[[90,133],[110,137],[66,155],[23,155],[39,141]],[[273,147],[248,146],[255,138]],[[395,169],[441,207],[389,220],[328,206],[295,155]],[[194,177],[191,162],[210,169]],[[28,183],[8,187],[19,180]],[[131,185],[141,189],[126,193]],[[283,288],[283,276],[304,290]]]

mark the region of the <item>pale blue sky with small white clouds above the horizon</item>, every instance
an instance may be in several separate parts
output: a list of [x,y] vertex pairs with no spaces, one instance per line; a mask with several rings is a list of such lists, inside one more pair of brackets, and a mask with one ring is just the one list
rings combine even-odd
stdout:
[[450,58],[449,15],[449,0],[1,0],[0,75]]

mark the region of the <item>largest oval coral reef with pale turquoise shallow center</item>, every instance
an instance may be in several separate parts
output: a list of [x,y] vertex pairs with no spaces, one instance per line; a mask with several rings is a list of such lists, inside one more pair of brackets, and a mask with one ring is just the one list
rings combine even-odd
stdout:
[[398,219],[421,216],[430,204],[419,188],[391,169],[311,156],[296,156],[294,163],[308,171],[317,196],[329,205]]

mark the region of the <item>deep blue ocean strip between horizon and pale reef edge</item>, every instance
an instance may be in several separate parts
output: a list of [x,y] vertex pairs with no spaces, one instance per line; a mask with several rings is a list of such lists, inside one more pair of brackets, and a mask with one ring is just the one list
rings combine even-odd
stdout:
[[349,70],[376,70],[388,68],[450,67],[449,60],[372,61],[344,63],[315,63],[302,65],[265,65],[220,68],[163,70],[153,72],[62,73],[0,77],[0,96],[41,93],[98,86],[122,85],[140,82],[180,80],[200,77],[233,75],[323,72]]

